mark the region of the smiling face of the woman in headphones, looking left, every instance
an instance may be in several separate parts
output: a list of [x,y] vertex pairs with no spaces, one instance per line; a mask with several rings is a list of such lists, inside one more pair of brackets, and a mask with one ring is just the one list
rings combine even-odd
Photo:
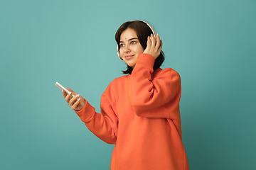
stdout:
[[119,45],[122,60],[124,60],[129,67],[134,67],[138,56],[144,52],[136,32],[132,28],[124,30],[120,35]]

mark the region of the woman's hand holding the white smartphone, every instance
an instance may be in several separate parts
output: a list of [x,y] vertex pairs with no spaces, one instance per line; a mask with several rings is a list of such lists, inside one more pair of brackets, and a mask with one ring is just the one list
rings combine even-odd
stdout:
[[[70,91],[70,94],[66,94],[65,91],[63,91],[63,97],[67,101],[70,108],[72,108],[74,111],[80,111],[85,106],[85,98],[82,98],[82,96],[75,93],[71,89],[68,89],[68,91]],[[73,97],[72,94],[74,94],[75,97]]]

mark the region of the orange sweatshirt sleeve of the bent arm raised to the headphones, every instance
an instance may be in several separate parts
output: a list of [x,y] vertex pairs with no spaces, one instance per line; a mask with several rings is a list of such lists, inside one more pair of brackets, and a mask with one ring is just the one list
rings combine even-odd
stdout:
[[174,69],[164,69],[152,77],[154,57],[139,55],[131,74],[129,101],[138,116],[179,118],[181,79]]

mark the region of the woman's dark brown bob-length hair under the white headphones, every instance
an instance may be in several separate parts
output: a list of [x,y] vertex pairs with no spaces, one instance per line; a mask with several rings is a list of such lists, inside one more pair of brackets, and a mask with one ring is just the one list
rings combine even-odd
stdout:
[[[146,25],[143,21],[128,21],[126,23],[123,23],[122,26],[120,26],[117,30],[117,33],[115,34],[115,40],[117,41],[118,49],[120,49],[120,35],[124,30],[127,30],[127,28],[132,28],[135,33],[137,34],[139,38],[139,43],[142,45],[143,49],[146,49],[146,41],[147,37],[153,34],[151,28]],[[161,67],[161,64],[164,62],[164,52],[161,51],[159,57],[156,58],[154,62],[154,67],[153,69],[158,69]],[[123,71],[124,74],[132,74],[132,67],[129,67],[127,65],[127,70]]]

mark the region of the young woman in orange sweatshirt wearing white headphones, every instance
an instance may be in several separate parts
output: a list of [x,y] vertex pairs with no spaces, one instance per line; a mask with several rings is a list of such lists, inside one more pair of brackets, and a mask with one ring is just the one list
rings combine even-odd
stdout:
[[129,21],[115,38],[127,75],[107,86],[101,114],[71,89],[70,94],[63,91],[65,100],[91,132],[115,145],[110,169],[187,170],[179,111],[181,79],[174,69],[159,68],[164,62],[159,35],[144,21]]

